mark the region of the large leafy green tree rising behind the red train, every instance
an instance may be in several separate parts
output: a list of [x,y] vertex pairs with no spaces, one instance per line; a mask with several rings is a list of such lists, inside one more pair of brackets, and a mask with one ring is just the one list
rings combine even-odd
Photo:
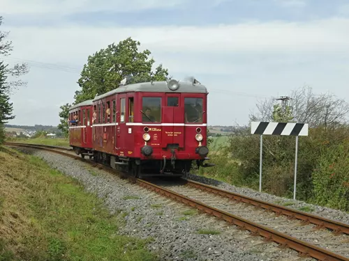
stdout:
[[140,42],[127,38],[118,45],[112,43],[89,56],[77,81],[81,90],[75,92],[75,104],[118,88],[120,81],[126,76],[132,77],[133,84],[167,80],[168,70],[158,65],[155,72],[152,72],[155,61],[149,59],[151,52],[148,49],[138,52],[139,46]]

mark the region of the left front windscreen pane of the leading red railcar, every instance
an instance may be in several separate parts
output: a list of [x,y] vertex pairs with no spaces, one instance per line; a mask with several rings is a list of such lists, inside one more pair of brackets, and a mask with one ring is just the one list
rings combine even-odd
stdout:
[[142,122],[161,122],[161,97],[143,97]]

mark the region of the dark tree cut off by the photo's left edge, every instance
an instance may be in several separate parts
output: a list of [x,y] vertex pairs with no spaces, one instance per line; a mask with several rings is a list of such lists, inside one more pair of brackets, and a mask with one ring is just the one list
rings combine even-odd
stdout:
[[[3,17],[0,16],[0,26],[2,19]],[[15,88],[26,84],[24,81],[15,80],[15,78],[28,72],[25,63],[22,65],[16,64],[11,68],[2,61],[1,56],[8,56],[13,50],[12,42],[6,40],[7,36],[8,32],[0,31],[0,144],[5,138],[3,124],[15,118],[12,114],[13,104],[10,102],[10,93]],[[8,81],[9,77],[14,80]]]

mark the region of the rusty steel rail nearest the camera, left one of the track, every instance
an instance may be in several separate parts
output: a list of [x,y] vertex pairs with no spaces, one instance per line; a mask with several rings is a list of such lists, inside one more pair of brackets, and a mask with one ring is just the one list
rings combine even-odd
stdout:
[[[82,159],[81,157],[62,152],[59,150],[54,150],[52,148],[47,148],[47,145],[36,145],[36,144],[28,144],[28,143],[6,143],[6,145],[14,145],[14,146],[20,146],[20,147],[31,147],[31,148],[38,148],[41,150],[47,150],[50,152],[58,153],[60,155],[68,156],[74,159],[79,159],[80,161],[87,162],[89,164],[92,164],[94,166],[98,166],[98,168],[101,168],[105,171],[108,171],[110,173],[117,173],[121,177],[122,174],[119,173],[119,171],[115,171],[114,169],[104,166],[102,164],[96,164],[93,161]],[[211,214],[213,216],[216,216],[219,219],[223,219],[227,221],[228,223],[232,223],[235,226],[239,226],[239,228],[242,228],[243,230],[249,230],[251,231],[251,235],[253,236],[262,236],[265,237],[265,241],[268,242],[276,242],[281,245],[282,248],[292,248],[293,250],[299,252],[299,255],[306,258],[311,257],[315,258],[317,260],[322,261],[349,261],[349,258],[344,257],[343,255],[338,255],[336,253],[333,253],[331,251],[327,251],[324,248],[320,248],[318,246],[315,246],[313,244],[309,244],[308,242],[304,242],[300,239],[297,239],[295,237],[291,237],[283,232],[279,232],[277,230],[274,230],[272,228],[267,228],[266,226],[262,226],[258,223],[254,223],[252,221],[248,221],[246,219],[243,219],[239,216],[235,216],[233,214],[230,214],[228,212],[225,212],[221,209],[217,209],[216,207],[211,207],[209,205],[206,205],[205,203],[202,203],[198,200],[194,200],[193,198],[188,198],[184,195],[181,195],[180,193],[171,191],[169,189],[165,189],[164,187],[160,187],[156,184],[152,184],[151,182],[147,182],[145,180],[135,179],[134,177],[130,177],[130,180],[133,182],[139,184],[141,187],[145,187],[147,189],[150,189],[151,191],[154,191],[156,193],[159,193],[163,196],[166,196],[168,198],[173,198],[175,200],[178,200],[181,203],[184,203],[186,205],[189,205],[191,207],[196,207],[202,212],[206,212],[207,214]],[[197,184],[200,184],[198,182],[195,182]],[[208,186],[208,185],[207,185]],[[211,187],[211,186],[209,186]],[[216,189],[212,187],[211,189]],[[221,190],[221,189],[220,189]],[[226,191],[221,190],[220,193],[223,193]]]

